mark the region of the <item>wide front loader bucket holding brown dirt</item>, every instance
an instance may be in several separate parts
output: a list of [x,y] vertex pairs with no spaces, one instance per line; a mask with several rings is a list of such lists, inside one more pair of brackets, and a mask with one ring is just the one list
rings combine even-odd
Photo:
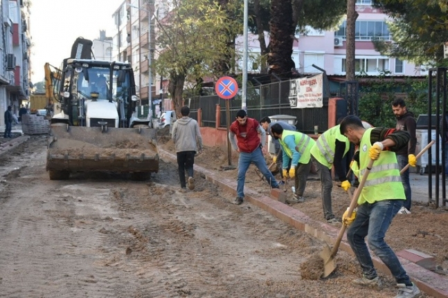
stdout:
[[155,131],[51,124],[46,170],[51,180],[68,179],[76,171],[157,172]]

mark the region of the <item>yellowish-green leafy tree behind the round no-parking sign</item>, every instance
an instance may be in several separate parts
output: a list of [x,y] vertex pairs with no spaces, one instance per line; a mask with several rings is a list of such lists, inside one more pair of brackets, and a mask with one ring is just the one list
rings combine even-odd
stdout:
[[[229,36],[241,32],[242,26],[238,18],[229,19],[217,1],[174,0],[171,4],[174,10],[159,21],[159,57],[154,67],[157,73],[169,78],[168,92],[180,115],[185,88],[192,89],[198,78],[222,75],[214,71],[215,65],[225,63],[228,69],[235,69],[235,59],[226,59],[235,57],[235,48],[227,45]],[[236,1],[226,3],[227,9],[236,7]]]

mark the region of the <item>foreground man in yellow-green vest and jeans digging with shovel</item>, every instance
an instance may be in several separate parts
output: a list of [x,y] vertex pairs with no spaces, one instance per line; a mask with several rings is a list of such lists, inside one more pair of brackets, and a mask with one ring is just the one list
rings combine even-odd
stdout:
[[[352,162],[352,171],[360,179],[365,173],[368,175],[357,201],[357,212],[348,217],[347,211],[342,216],[343,223],[350,225],[347,240],[363,271],[363,276],[352,283],[359,287],[382,287],[366,245],[368,235],[370,249],[397,281],[395,298],[418,297],[420,290],[411,282],[395,252],[384,241],[393,217],[406,200],[395,152],[408,145],[409,133],[380,127],[364,129],[361,120],[354,115],[344,118],[340,129],[350,142],[359,145],[359,161]],[[368,168],[370,160],[375,160],[371,169]]]

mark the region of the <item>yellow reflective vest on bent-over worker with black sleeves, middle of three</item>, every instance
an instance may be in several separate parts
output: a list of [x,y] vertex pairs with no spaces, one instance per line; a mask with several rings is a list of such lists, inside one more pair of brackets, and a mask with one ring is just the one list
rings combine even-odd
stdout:
[[328,169],[332,168],[334,163],[334,150],[336,148],[336,140],[346,143],[346,149],[343,156],[346,155],[348,149],[350,149],[350,142],[346,136],[339,131],[339,125],[328,129],[319,136],[316,140],[316,145],[311,148],[311,155],[316,158],[322,165],[326,165]]

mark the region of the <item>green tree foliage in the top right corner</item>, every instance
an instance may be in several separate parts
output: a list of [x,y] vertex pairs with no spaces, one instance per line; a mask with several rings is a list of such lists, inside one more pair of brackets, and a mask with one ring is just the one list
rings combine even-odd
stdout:
[[382,55],[415,64],[446,66],[443,44],[448,41],[448,3],[445,0],[379,0],[375,2],[393,21],[393,42],[375,41]]

